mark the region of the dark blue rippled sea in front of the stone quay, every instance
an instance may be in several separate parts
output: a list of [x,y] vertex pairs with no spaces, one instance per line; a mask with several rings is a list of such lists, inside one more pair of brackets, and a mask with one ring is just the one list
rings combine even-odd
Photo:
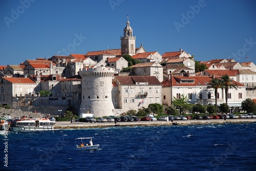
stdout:
[[[75,138],[90,136],[100,149],[76,151]],[[0,170],[256,170],[255,123],[9,132],[3,139]]]

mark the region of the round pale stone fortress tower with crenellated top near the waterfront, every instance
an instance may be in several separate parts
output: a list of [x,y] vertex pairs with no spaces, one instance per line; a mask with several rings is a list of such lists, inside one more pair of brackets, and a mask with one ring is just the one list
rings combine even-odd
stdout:
[[95,117],[113,115],[112,78],[114,68],[94,67],[80,71],[82,77],[81,112],[94,114]]

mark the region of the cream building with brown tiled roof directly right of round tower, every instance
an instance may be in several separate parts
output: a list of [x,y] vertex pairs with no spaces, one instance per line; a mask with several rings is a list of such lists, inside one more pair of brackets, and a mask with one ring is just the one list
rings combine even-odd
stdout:
[[118,91],[113,99],[122,112],[162,105],[162,86],[154,76],[116,76],[113,84]]

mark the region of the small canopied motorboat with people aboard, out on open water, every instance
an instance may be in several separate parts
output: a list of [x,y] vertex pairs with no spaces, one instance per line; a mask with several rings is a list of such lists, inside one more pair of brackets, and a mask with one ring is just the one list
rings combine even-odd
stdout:
[[92,138],[94,137],[76,138],[75,149],[76,150],[97,150],[99,148],[99,144],[93,144]]

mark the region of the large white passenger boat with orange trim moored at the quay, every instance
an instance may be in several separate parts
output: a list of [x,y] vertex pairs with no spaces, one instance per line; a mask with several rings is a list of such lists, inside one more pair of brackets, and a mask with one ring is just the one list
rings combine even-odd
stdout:
[[11,131],[49,131],[53,130],[53,124],[50,119],[18,119],[12,123]]

